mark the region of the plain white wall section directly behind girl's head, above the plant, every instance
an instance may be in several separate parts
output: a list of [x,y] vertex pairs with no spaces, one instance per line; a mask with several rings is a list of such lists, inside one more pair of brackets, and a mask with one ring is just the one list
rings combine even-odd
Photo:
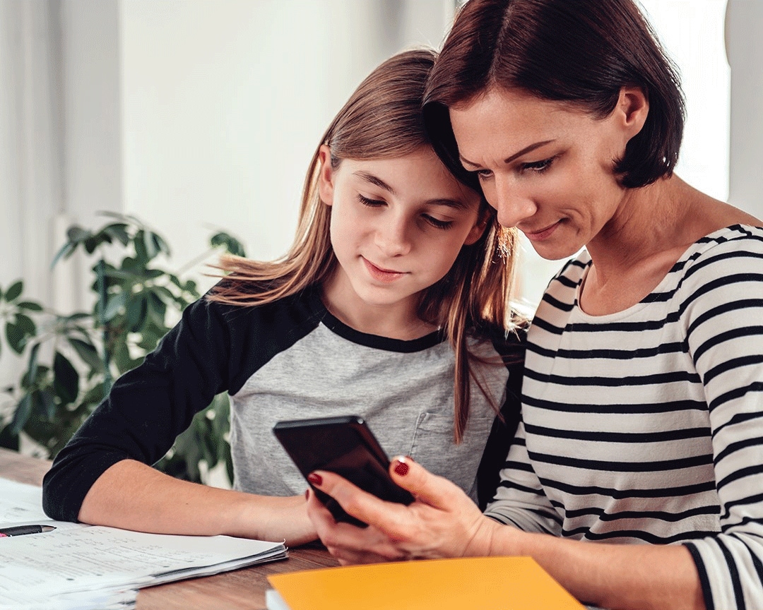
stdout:
[[439,44],[448,4],[123,0],[124,209],[168,236],[176,265],[213,227],[252,258],[284,254],[331,118],[391,53]]

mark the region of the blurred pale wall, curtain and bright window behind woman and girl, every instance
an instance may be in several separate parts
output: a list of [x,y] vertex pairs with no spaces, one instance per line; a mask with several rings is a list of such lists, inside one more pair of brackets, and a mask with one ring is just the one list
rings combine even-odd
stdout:
[[[439,47],[457,0],[0,0],[0,287],[60,314],[92,309],[95,258],[50,263],[76,223],[134,214],[164,268],[206,290],[209,236],[282,255],[320,135],[361,79]],[[763,216],[763,0],[642,0],[681,71],[678,174]],[[111,247],[111,246],[108,246]],[[530,246],[529,311],[559,262]],[[2,315],[0,303],[0,315]],[[0,355],[13,384],[18,355]]]

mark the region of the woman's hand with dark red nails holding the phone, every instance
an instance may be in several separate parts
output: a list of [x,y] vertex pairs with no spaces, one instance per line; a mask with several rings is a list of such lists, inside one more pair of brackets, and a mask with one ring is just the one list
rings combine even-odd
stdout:
[[335,522],[310,493],[307,514],[320,540],[343,564],[488,555],[494,531],[501,528],[458,486],[430,474],[410,457],[396,457],[390,464],[392,480],[416,498],[410,506],[385,502],[324,470],[314,475],[314,486],[369,524],[356,528]]

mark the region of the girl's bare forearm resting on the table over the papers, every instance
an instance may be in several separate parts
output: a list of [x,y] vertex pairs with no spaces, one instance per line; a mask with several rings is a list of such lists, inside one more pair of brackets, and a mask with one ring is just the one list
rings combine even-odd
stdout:
[[123,460],[105,470],[79,520],[160,534],[230,535],[304,544],[316,538],[302,496],[256,496],[189,483]]

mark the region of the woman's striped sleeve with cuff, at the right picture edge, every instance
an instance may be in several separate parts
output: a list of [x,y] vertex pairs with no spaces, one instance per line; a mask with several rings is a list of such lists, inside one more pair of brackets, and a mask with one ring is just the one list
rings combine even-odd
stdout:
[[685,543],[708,610],[763,608],[763,237],[691,262],[680,288],[687,347],[710,411],[719,534]]

